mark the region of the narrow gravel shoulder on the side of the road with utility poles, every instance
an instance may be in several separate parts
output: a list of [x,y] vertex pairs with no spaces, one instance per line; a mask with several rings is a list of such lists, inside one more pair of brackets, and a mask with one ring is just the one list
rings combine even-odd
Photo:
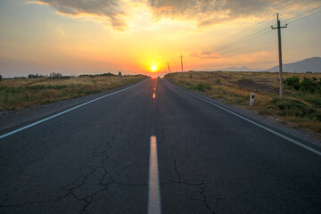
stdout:
[[306,144],[309,144],[311,147],[313,147],[317,150],[321,149],[321,134],[320,133],[312,132],[306,128],[291,128],[289,125],[282,123],[280,120],[278,120],[276,118],[256,114],[255,112],[246,110],[241,106],[224,103],[224,102],[219,101],[217,99],[210,98],[209,96],[205,95],[204,93],[202,93],[200,91],[191,91],[191,90],[186,89],[185,87],[178,86],[177,84],[175,84],[171,81],[169,81],[169,82],[177,87],[182,88],[185,91],[192,93],[193,95],[198,95],[198,96],[202,97],[203,99],[206,99],[212,103],[216,103],[219,106],[226,108],[227,110],[234,111],[235,113],[238,113],[245,118],[259,122],[259,124],[261,124],[261,125],[267,126],[268,128],[274,129],[274,130],[276,130],[282,134],[285,134],[287,136],[290,136],[292,138],[294,137],[294,139],[296,138],[296,140],[299,140],[300,142],[304,142]]

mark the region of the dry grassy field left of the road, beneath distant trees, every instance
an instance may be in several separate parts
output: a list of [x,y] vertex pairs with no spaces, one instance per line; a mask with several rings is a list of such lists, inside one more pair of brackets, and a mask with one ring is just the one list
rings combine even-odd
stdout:
[[135,83],[145,76],[13,78],[0,81],[0,110],[53,103]]

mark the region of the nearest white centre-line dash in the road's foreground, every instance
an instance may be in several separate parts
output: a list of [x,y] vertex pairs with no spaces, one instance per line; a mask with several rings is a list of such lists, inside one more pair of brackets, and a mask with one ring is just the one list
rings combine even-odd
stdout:
[[157,162],[156,136],[151,136],[150,177],[148,185],[148,214],[161,214],[161,193]]

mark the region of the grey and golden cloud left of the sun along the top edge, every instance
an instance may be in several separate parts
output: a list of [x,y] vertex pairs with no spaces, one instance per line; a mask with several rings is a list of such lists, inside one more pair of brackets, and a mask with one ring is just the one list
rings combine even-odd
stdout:
[[124,12],[117,0],[39,0],[27,4],[46,4],[53,7],[59,14],[70,17],[90,17],[94,20],[107,22],[113,29],[123,31],[127,24],[121,19]]

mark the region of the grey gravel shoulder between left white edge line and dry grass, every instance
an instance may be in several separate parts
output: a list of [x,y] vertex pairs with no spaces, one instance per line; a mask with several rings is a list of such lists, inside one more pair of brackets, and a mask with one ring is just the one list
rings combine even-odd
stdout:
[[86,103],[97,97],[108,95],[113,92],[119,91],[120,89],[126,88],[128,86],[136,85],[140,82],[129,84],[127,86],[121,86],[113,88],[102,93],[97,93],[93,95],[86,95],[82,97],[73,98],[70,100],[58,101],[55,103],[46,103],[43,105],[32,106],[27,109],[21,110],[4,110],[0,111],[0,135],[3,135],[7,132],[10,132],[16,128],[23,127],[29,123],[35,122],[39,119],[45,119],[61,111],[68,110],[74,106],[77,106],[81,103]]

